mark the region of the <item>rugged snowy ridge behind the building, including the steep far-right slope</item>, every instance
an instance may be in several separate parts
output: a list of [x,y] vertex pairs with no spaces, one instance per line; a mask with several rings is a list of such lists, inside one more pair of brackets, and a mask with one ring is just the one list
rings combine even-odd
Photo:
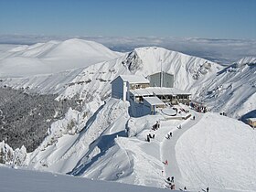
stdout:
[[70,99],[75,95],[83,101],[93,97],[101,100],[111,94],[110,83],[119,75],[135,73],[146,77],[161,69],[160,60],[163,70],[175,75],[174,87],[191,93],[192,100],[207,103],[208,110],[226,112],[231,117],[240,118],[256,108],[254,65],[231,65],[224,69],[206,59],[165,48],[136,48],[117,59],[50,75],[2,78],[0,85],[15,89],[29,88],[29,91],[43,94],[58,93],[58,100]]

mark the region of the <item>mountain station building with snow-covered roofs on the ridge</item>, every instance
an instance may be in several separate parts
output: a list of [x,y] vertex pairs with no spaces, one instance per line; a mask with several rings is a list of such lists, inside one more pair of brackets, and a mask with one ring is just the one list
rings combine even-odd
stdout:
[[[174,88],[174,78],[171,74],[165,73],[165,81],[168,82],[157,82],[156,77],[161,76],[155,73],[147,80],[139,75],[120,75],[112,80],[112,98],[130,101],[132,116],[155,114],[159,109],[178,103],[188,105],[191,94]],[[161,87],[153,86],[158,85],[157,83],[160,83]]]

